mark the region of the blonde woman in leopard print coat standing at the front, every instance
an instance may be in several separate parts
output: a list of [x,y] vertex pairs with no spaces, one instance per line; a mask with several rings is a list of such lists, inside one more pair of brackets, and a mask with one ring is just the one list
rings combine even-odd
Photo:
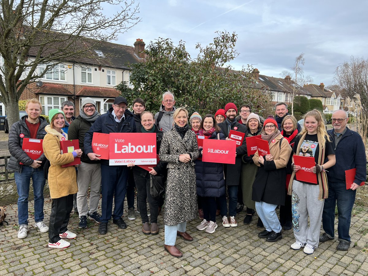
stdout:
[[188,126],[188,111],[174,112],[174,127],[165,132],[160,146],[160,160],[167,162],[167,183],[164,205],[165,250],[180,257],[175,247],[176,235],[193,238],[185,231],[187,221],[197,216],[197,192],[194,160],[198,158],[195,133]]

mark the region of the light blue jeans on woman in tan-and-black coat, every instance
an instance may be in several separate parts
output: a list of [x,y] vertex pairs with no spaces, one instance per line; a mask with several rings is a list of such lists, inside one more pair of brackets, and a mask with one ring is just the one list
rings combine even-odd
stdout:
[[269,204],[263,201],[255,202],[255,209],[258,216],[263,222],[267,231],[274,231],[275,233],[281,232],[281,224],[276,214],[276,204]]

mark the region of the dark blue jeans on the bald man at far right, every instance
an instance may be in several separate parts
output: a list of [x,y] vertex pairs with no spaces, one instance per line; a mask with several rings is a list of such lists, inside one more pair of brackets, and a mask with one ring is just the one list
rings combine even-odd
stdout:
[[322,224],[323,230],[329,237],[335,237],[335,206],[337,204],[339,240],[350,242],[351,211],[353,210],[356,192],[356,190],[346,190],[345,183],[328,182],[328,198],[325,199],[325,206],[323,207]]

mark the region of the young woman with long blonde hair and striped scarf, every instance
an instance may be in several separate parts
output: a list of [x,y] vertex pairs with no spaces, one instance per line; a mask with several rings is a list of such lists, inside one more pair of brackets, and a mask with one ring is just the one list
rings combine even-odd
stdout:
[[293,152],[294,156],[313,156],[315,159],[315,166],[310,170],[317,175],[317,184],[298,181],[296,172],[301,169],[301,166],[296,166],[293,162],[293,174],[288,190],[291,195],[293,230],[296,239],[291,248],[299,250],[304,247],[305,254],[312,254],[318,247],[323,204],[328,197],[325,169],[336,163],[335,149],[327,135],[322,114],[318,110],[305,114],[304,129],[295,139]]

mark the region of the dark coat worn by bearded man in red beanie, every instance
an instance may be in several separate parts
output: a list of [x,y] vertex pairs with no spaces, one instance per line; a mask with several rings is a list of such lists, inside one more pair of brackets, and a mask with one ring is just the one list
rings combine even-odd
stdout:
[[[225,135],[225,137],[229,136],[228,124],[227,121],[223,121],[219,124],[219,127],[221,128],[221,131]],[[234,130],[234,128],[237,128],[236,131],[245,133],[243,144],[241,146],[238,146],[236,148],[236,158],[235,158],[235,164],[226,164],[225,167],[225,182],[226,185],[229,186],[237,186],[240,183],[240,170],[241,170],[241,157],[247,153],[247,145],[245,144],[245,138],[248,135],[248,128],[245,125],[240,124],[239,122],[236,122],[232,127],[231,130]]]

